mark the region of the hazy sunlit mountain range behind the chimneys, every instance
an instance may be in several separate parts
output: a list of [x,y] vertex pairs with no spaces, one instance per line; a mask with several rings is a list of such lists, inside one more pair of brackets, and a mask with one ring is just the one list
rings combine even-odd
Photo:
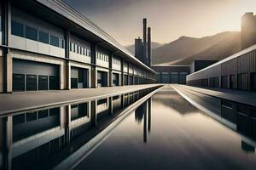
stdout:
[[[194,59],[220,60],[236,54],[241,50],[241,33],[224,31],[201,38],[183,36],[164,45],[154,44],[157,45],[152,45],[153,65],[189,65]],[[134,46],[127,49],[134,54]]]

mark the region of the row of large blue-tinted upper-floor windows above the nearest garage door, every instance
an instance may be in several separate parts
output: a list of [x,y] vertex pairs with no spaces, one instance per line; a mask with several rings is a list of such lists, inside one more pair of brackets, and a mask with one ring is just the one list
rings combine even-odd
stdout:
[[40,31],[30,26],[23,26],[14,20],[12,20],[11,23],[11,33],[15,36],[26,37],[27,39],[47,43],[58,48],[65,48],[65,41],[63,38],[56,37],[48,32]]

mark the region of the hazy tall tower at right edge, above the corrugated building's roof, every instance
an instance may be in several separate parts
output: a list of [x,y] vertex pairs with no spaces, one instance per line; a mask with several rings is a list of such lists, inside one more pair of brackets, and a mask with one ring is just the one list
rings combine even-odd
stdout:
[[246,13],[241,17],[241,50],[256,44],[256,15]]

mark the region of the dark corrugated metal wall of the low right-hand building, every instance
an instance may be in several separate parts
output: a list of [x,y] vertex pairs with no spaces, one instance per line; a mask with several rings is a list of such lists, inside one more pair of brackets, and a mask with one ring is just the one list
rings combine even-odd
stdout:
[[211,88],[256,90],[255,48],[251,51],[245,50],[245,53],[239,56],[224,59],[216,65],[187,76],[187,84]]

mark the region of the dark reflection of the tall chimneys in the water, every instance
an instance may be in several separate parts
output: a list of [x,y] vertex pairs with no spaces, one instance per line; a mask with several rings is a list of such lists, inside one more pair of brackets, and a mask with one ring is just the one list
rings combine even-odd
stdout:
[[147,143],[148,132],[151,130],[151,98],[137,108],[135,111],[135,120],[137,122],[143,121],[143,141]]

